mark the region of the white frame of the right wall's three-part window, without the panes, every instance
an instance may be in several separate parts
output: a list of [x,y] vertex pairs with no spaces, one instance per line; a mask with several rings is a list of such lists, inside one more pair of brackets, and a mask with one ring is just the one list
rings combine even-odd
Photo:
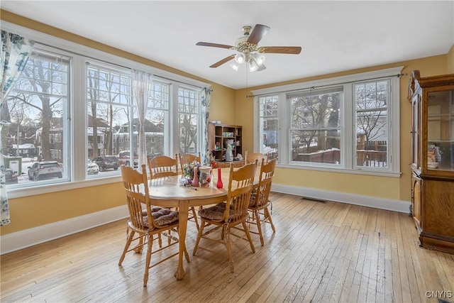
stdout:
[[[309,82],[300,82],[296,84],[282,85],[279,87],[269,87],[266,89],[253,90],[254,95],[254,151],[261,151],[259,125],[259,107],[258,98],[266,95],[279,96],[279,162],[278,167],[321,170],[326,172],[346,172],[361,175],[379,175],[387,177],[400,177],[400,75],[404,67],[392,67],[384,70],[372,72],[362,72],[342,77],[333,77],[327,79],[314,80]],[[353,100],[353,84],[363,81],[379,81],[389,78],[391,92],[389,94],[388,108],[388,163],[387,169],[376,169],[373,167],[358,167],[354,165],[355,161],[355,132],[353,131],[353,117],[355,114]],[[311,87],[328,87],[343,85],[343,104],[341,105],[341,131],[343,133],[341,140],[341,163],[339,167],[332,167],[323,163],[313,162],[292,162],[291,148],[289,138],[289,106],[286,104],[286,94],[301,89],[310,89]],[[330,167],[331,166],[331,167]]]

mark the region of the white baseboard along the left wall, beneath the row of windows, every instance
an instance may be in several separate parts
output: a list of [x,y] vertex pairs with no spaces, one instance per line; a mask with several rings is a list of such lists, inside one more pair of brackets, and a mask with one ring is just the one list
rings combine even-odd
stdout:
[[93,214],[58,221],[43,226],[29,228],[16,233],[8,233],[0,237],[0,255],[12,251],[35,246],[56,238],[78,233],[89,228],[101,226],[129,216],[128,206],[117,206]]

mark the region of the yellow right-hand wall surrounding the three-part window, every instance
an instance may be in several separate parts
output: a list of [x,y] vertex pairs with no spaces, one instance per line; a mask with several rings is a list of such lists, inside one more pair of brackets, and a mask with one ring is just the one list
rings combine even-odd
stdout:
[[[452,48],[450,53],[450,60],[453,60]],[[411,201],[411,170],[409,168],[411,161],[411,140],[409,136],[411,128],[411,105],[407,101],[409,77],[412,70],[419,70],[421,77],[447,74],[448,57],[448,55],[439,55],[389,65],[338,72],[330,75],[296,79],[267,86],[250,87],[247,94],[245,89],[240,89],[236,92],[236,123],[243,126],[243,138],[253,138],[253,119],[250,118],[253,116],[253,98],[246,97],[251,94],[250,90],[404,66],[402,73],[406,73],[406,75],[401,77],[400,80],[400,162],[402,172],[400,178],[277,167],[273,183],[409,202]],[[253,150],[253,140],[243,140],[243,150]]]

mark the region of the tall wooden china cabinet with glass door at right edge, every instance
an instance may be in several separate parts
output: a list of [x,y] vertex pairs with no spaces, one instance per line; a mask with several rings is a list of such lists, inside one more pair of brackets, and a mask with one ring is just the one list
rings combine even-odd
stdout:
[[411,213],[420,246],[454,253],[454,74],[409,83]]

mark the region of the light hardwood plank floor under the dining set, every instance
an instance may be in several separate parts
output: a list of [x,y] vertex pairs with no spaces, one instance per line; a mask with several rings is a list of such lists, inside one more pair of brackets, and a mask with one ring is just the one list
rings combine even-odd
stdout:
[[143,287],[145,254],[128,253],[118,266],[121,220],[2,255],[0,301],[454,302],[454,255],[419,248],[408,214],[288,194],[270,199],[277,231],[265,226],[263,247],[252,235],[255,254],[236,241],[233,273],[225,248],[192,256],[189,222],[184,280],[175,280],[172,258],[152,268]]

